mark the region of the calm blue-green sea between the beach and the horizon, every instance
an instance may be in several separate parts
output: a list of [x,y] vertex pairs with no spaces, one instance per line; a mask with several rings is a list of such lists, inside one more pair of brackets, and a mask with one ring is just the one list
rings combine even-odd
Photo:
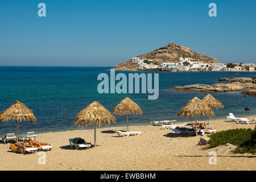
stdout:
[[[105,67],[0,67],[0,110],[19,100],[34,111],[38,119],[35,123],[22,122],[19,133],[36,131],[75,130],[72,121],[76,114],[93,101],[98,101],[112,110],[123,98],[130,97],[143,110],[143,115],[129,118],[130,125],[148,125],[150,121],[177,119],[192,121],[192,118],[178,118],[177,111],[193,97],[203,98],[205,93],[184,93],[167,90],[177,85],[213,84],[221,77],[254,77],[255,73],[240,72],[159,72],[159,98],[148,100],[148,94],[98,94],[99,73]],[[119,72],[116,72],[116,74]],[[130,72],[123,72],[126,75]],[[141,72],[138,72],[141,73]],[[152,73],[152,72],[150,72]],[[214,110],[216,118],[225,118],[232,112],[237,117],[256,115],[256,98],[244,97],[236,93],[212,93],[220,100],[224,109]],[[250,107],[245,111],[243,107]],[[116,117],[117,124],[125,126],[126,117]],[[205,119],[205,118],[200,118]],[[89,129],[91,127],[88,127]],[[0,123],[0,137],[5,133],[16,132],[13,121]]]

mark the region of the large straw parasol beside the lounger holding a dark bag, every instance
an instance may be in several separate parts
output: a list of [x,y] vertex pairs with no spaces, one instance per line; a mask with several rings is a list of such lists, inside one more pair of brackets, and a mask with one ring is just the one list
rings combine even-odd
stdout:
[[94,101],[76,115],[73,123],[75,125],[79,123],[79,127],[82,127],[82,129],[84,125],[86,127],[87,125],[94,124],[94,147],[96,147],[96,126],[101,127],[102,124],[106,126],[110,121],[115,123],[115,120],[115,117],[110,111],[105,109],[105,107],[97,101]]

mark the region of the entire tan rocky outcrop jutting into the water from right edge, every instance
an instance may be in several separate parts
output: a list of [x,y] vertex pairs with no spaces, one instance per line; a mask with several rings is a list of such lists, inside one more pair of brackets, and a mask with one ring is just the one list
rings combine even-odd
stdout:
[[229,77],[220,78],[219,81],[226,82],[220,84],[194,84],[185,86],[175,86],[169,90],[176,90],[179,92],[206,92],[206,93],[217,93],[217,92],[238,92],[243,91],[242,94],[247,96],[256,97],[256,76],[254,78],[247,77]]

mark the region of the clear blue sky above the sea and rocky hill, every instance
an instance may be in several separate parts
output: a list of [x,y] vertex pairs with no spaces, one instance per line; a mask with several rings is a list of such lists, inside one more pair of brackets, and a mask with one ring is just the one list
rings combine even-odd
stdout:
[[0,65],[113,66],[170,42],[256,63],[255,20],[255,0],[0,0]]

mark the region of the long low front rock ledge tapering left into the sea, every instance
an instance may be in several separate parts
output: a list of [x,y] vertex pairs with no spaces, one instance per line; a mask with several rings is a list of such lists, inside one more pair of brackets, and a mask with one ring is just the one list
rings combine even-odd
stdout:
[[169,90],[176,90],[180,92],[235,92],[243,90],[244,87],[238,84],[195,84],[185,86],[175,86]]

